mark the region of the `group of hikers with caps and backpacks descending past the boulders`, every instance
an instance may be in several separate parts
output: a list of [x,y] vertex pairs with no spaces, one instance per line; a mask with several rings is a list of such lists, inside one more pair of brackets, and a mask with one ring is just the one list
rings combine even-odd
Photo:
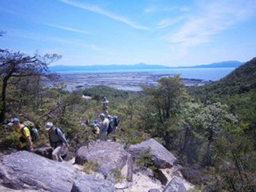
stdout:
[[[108,134],[110,132],[116,133],[119,123],[117,116],[111,116],[108,114],[108,100],[106,97],[102,100],[103,113],[100,113],[100,122],[97,120],[94,122],[94,129],[99,129],[99,139],[101,141],[108,140]],[[19,139],[21,150],[33,151],[33,141],[38,138],[38,130],[32,122],[26,121],[21,123],[19,118],[12,118],[7,124],[13,127],[15,136]],[[45,130],[48,132],[49,143],[52,147],[52,159],[56,161],[63,161],[63,150],[69,150],[68,142],[65,138],[64,131],[60,127],[54,126],[52,122],[45,124]],[[66,151],[67,151],[66,150]],[[67,152],[66,152],[67,153]]]

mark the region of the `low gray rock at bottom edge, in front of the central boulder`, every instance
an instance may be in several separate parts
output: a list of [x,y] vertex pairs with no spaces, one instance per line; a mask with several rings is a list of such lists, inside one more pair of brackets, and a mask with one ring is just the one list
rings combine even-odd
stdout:
[[106,182],[106,180],[96,179],[89,175],[84,175],[79,180],[76,180],[70,192],[101,192],[101,191],[116,191],[115,187]]

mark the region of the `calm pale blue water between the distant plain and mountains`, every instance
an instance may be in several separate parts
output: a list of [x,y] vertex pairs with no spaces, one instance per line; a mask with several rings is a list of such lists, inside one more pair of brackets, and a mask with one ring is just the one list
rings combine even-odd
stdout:
[[168,69],[150,69],[150,70],[80,70],[59,72],[60,74],[115,74],[115,73],[147,73],[147,74],[180,74],[188,79],[205,79],[218,81],[227,76],[234,67],[229,68],[168,68]]

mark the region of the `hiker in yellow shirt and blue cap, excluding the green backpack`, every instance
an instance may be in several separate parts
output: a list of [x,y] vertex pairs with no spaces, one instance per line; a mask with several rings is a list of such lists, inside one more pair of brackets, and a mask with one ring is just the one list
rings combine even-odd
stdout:
[[20,141],[21,150],[34,150],[30,131],[26,125],[20,124],[19,118],[12,118],[7,125],[14,128],[14,135]]

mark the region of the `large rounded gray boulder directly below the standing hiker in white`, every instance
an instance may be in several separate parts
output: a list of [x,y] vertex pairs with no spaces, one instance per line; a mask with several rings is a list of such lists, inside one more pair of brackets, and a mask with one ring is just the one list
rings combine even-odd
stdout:
[[132,180],[132,156],[119,143],[93,141],[88,147],[79,148],[76,163],[84,164],[89,161],[97,163],[97,172],[102,173],[111,182],[120,179]]

